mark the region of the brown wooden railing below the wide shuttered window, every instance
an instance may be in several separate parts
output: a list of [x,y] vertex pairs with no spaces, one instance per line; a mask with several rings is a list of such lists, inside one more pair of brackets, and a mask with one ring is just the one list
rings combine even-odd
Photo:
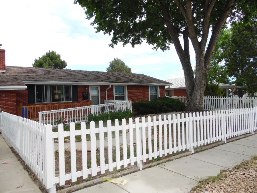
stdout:
[[38,121],[39,120],[38,112],[40,111],[51,111],[51,110],[58,110],[58,109],[85,107],[85,106],[89,106],[89,104],[90,104],[89,102],[61,103],[59,101],[58,103],[54,103],[54,104],[22,106],[22,103],[20,103],[19,106],[17,107],[17,114],[18,116]]

